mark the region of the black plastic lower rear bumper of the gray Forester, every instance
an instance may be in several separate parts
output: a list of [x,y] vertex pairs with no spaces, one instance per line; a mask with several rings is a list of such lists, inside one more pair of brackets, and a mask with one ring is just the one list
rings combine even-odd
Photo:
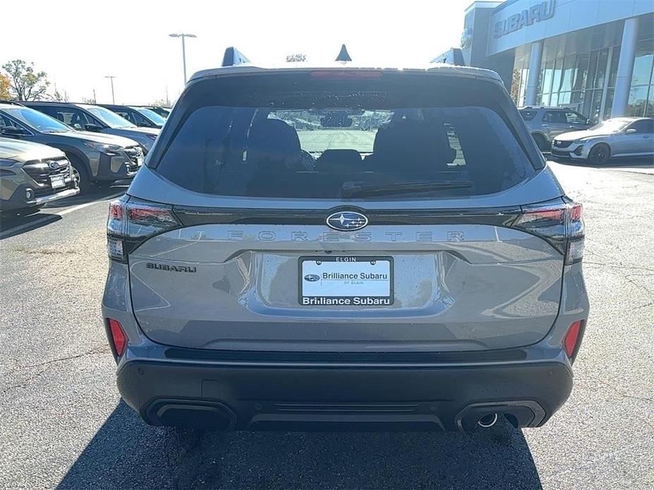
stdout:
[[[550,357],[550,356],[547,356]],[[122,359],[123,399],[154,425],[246,430],[471,430],[486,414],[540,426],[572,388],[563,355],[485,365]]]

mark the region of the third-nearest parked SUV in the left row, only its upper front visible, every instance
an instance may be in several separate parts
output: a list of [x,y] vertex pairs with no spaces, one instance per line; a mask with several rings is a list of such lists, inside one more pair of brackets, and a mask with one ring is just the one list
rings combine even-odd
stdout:
[[59,119],[59,121],[75,129],[130,138],[141,145],[145,154],[150,151],[152,143],[155,142],[159,134],[158,129],[139,128],[115,112],[111,112],[99,105],[42,101],[20,103]]

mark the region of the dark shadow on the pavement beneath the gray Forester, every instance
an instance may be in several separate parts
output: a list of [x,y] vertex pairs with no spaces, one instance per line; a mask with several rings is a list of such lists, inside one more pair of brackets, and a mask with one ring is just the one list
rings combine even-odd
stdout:
[[198,433],[145,425],[123,402],[59,484],[78,488],[540,489],[522,431]]

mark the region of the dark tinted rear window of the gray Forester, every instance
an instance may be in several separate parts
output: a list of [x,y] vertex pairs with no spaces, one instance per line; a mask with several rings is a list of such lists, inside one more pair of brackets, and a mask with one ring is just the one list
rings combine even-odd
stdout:
[[150,166],[201,193],[329,199],[488,194],[534,172],[493,97],[406,78],[258,82],[193,97]]

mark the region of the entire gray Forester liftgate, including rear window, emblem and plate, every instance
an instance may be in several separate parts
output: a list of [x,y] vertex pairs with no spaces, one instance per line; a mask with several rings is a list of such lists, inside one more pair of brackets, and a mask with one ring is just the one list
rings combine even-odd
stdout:
[[[499,81],[225,73],[188,85],[128,191],[125,260],[148,337],[304,352],[545,337],[569,210]],[[516,227],[544,201],[543,233]]]

